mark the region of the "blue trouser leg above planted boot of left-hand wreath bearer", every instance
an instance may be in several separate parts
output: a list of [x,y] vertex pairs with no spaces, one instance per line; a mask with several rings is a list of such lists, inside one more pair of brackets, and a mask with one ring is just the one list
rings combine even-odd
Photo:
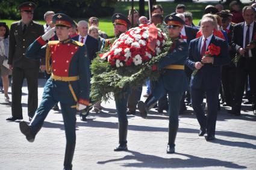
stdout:
[[118,116],[118,122],[127,123],[127,102],[128,96],[130,94],[129,90],[123,90],[122,94],[114,94],[114,102],[116,102],[116,112]]

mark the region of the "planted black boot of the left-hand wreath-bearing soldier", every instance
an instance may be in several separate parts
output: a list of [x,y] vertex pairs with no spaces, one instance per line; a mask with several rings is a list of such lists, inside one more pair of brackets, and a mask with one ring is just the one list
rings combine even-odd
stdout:
[[127,151],[127,131],[128,131],[128,122],[119,122],[119,145],[114,148],[114,151]]

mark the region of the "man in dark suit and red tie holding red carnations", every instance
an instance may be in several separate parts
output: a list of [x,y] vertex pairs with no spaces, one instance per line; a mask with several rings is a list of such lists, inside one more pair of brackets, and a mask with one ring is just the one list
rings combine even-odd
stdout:
[[[189,58],[186,64],[192,70],[197,70],[190,82],[192,106],[200,124],[199,136],[204,136],[207,141],[215,139],[217,120],[217,103],[221,81],[221,67],[230,62],[226,43],[221,38],[213,35],[214,21],[203,17],[201,21],[203,36],[190,41]],[[219,46],[219,55],[205,56],[208,46]],[[208,115],[204,114],[202,102],[207,96]]]

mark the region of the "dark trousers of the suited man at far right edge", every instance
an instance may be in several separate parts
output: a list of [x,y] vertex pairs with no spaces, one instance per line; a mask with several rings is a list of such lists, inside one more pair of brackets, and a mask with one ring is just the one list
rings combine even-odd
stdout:
[[236,68],[236,89],[234,96],[234,104],[232,110],[236,113],[241,111],[241,103],[243,98],[243,93],[245,91],[245,83],[247,76],[249,75],[249,85],[252,94],[252,109],[256,109],[256,66],[252,58],[240,58],[245,67]]

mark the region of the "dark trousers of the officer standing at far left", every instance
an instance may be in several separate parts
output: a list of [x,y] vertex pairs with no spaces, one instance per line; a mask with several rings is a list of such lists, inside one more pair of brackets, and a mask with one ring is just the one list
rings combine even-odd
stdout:
[[38,74],[39,68],[13,68],[13,83],[11,83],[11,114],[13,117],[22,118],[21,96],[22,84],[25,78],[28,84],[28,116],[33,117],[35,114],[38,105]]

